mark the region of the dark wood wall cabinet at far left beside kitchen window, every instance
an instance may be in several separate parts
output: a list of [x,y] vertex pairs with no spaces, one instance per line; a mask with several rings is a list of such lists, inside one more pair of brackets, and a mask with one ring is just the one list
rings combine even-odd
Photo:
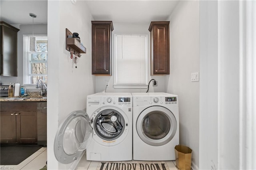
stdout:
[[17,34],[19,29],[0,22],[0,75],[18,76],[17,72]]

